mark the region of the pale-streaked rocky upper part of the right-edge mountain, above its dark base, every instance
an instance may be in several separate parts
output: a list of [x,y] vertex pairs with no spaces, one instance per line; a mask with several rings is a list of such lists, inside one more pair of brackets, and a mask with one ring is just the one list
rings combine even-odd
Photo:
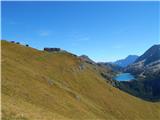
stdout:
[[160,71],[160,45],[153,45],[125,71],[145,77]]

